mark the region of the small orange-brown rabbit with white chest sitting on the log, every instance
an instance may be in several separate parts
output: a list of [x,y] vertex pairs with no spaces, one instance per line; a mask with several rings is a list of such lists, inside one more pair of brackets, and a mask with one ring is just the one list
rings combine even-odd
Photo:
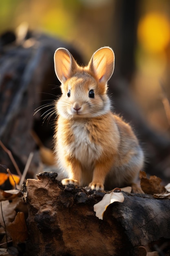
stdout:
[[56,102],[55,151],[62,184],[114,189],[132,184],[144,154],[132,128],[110,111],[107,82],[115,56],[97,50],[87,67],[79,67],[64,48],[54,55],[62,96]]

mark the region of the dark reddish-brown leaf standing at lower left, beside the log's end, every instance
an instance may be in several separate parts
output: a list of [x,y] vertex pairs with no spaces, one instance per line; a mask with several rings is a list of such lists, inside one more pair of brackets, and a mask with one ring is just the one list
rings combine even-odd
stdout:
[[18,212],[15,220],[7,226],[7,233],[12,238],[13,243],[24,243],[28,233],[23,212]]

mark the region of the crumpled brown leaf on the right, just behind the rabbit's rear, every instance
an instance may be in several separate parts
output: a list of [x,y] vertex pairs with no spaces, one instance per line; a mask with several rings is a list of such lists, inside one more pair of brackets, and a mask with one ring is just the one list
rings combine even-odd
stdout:
[[162,180],[159,177],[154,175],[148,179],[144,171],[140,171],[139,177],[141,179],[141,189],[144,193],[153,195],[166,192],[165,187],[161,185]]

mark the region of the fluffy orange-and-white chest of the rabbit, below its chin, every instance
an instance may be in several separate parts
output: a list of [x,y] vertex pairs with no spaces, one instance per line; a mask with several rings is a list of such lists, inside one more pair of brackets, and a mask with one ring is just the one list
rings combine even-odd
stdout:
[[[109,112],[94,119],[68,121],[59,117],[57,154],[75,157],[84,169],[92,168],[101,157],[111,157],[117,150],[119,136],[113,115]],[[111,155],[110,155],[111,154]]]

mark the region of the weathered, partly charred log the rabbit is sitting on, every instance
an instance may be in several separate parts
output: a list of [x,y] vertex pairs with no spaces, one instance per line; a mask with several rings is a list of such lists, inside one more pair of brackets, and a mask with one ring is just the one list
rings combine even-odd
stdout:
[[56,177],[56,173],[40,173],[38,180],[27,180],[26,255],[140,256],[144,254],[139,246],[154,251],[154,244],[170,239],[170,200],[122,192],[124,202],[108,206],[99,220],[93,206],[105,193],[65,188]]

